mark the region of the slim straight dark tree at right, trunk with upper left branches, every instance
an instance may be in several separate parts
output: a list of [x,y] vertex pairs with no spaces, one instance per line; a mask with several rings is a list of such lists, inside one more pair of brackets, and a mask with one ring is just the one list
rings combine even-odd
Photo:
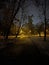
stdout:
[[44,0],[44,3],[40,3],[41,0],[35,0],[36,7],[39,8],[39,6],[42,6],[43,9],[43,15],[44,15],[44,41],[46,41],[46,0]]

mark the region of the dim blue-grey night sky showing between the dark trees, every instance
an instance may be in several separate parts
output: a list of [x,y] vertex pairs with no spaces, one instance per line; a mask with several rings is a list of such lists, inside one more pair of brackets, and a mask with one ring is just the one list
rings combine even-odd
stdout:
[[[1,0],[2,1],[2,0]],[[23,14],[26,15],[26,17],[29,15],[33,15],[33,23],[36,24],[37,22],[44,21],[44,15],[43,15],[43,8],[41,6],[41,3],[43,3],[44,7],[44,1],[45,0],[36,0],[37,3],[40,3],[40,6],[36,4],[35,0],[25,0],[23,3]],[[0,2],[1,4],[1,2]],[[1,16],[3,15],[2,10],[0,9],[0,19],[2,18]],[[20,8],[18,14],[16,15],[17,18],[22,19],[22,10]],[[46,17],[49,19],[49,0],[46,0]],[[24,22],[27,22],[27,18],[25,19]]]

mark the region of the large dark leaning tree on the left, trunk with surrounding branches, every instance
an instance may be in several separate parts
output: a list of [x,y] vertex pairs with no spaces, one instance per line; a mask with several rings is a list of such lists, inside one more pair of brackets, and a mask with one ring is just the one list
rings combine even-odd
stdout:
[[[10,33],[11,24],[16,16],[16,14],[19,11],[19,8],[21,7],[22,0],[8,0],[8,2],[2,1],[2,3],[5,4],[5,7],[3,7],[3,22],[2,22],[2,29],[4,31],[4,37],[5,39],[8,39],[8,35]],[[19,23],[20,24],[20,23]],[[20,26],[19,26],[20,28]]]

